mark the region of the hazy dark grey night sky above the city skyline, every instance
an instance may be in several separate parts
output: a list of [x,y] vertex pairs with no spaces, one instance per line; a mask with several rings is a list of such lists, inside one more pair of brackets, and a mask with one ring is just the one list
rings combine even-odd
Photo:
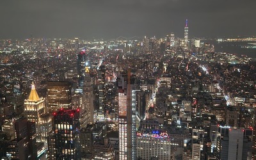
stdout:
[[0,38],[256,36],[256,0],[1,0]]

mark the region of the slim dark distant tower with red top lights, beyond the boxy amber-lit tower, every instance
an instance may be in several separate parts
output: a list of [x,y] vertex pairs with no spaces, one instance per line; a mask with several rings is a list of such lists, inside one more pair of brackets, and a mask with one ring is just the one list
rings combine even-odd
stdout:
[[84,67],[86,64],[86,53],[85,51],[81,51],[77,54],[77,74],[79,78],[79,88],[83,88],[83,81],[84,81]]

